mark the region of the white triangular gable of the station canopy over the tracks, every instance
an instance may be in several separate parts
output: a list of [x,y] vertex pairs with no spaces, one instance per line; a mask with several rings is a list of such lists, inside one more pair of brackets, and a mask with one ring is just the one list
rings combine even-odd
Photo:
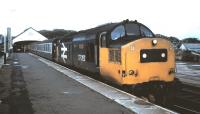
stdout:
[[20,33],[13,39],[13,44],[17,42],[28,42],[28,41],[43,41],[47,40],[46,37],[41,35],[39,32],[37,32],[35,29],[32,27],[24,30],[24,32]]

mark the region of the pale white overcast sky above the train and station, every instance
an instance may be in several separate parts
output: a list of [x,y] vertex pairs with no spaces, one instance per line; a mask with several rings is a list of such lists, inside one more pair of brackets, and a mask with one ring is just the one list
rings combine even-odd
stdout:
[[0,34],[36,30],[83,30],[125,19],[138,20],[154,33],[200,39],[199,0],[4,0]]

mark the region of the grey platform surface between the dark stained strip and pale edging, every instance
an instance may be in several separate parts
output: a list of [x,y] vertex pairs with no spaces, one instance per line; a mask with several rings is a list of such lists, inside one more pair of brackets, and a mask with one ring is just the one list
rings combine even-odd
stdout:
[[28,54],[16,54],[36,114],[131,112]]

